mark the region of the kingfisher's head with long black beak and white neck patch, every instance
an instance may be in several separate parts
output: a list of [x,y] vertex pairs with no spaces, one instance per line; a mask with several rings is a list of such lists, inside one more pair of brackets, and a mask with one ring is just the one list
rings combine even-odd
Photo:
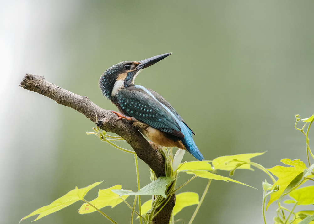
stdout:
[[108,68],[99,79],[99,87],[106,98],[111,99],[122,88],[134,85],[135,77],[144,68],[171,55],[166,53],[141,61],[122,61]]

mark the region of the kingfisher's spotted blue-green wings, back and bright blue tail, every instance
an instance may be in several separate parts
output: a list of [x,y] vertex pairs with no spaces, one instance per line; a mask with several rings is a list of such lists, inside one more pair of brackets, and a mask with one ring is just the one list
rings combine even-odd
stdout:
[[158,93],[135,85],[121,89],[117,98],[125,115],[179,137],[189,153],[200,161],[204,159],[193,141],[192,134],[194,133],[192,130],[176,110]]

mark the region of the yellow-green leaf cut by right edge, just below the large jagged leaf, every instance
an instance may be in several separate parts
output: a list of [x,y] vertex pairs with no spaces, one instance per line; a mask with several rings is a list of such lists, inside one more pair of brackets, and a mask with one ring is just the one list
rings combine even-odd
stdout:
[[297,205],[314,204],[314,186],[307,186],[293,190],[289,193],[289,196],[297,201]]

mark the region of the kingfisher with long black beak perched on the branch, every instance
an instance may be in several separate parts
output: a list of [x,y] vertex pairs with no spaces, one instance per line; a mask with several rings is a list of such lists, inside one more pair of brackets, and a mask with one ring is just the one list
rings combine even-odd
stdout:
[[134,84],[140,71],[171,54],[112,65],[100,77],[99,87],[120,111],[112,111],[118,115],[118,119],[132,121],[133,126],[157,146],[178,147],[202,161],[204,157],[193,140],[192,134],[195,133],[170,103],[157,92]]

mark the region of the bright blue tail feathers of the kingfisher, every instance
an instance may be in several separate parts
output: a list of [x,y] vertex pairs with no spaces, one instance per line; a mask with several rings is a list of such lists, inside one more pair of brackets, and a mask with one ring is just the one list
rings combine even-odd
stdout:
[[184,138],[181,139],[183,145],[187,149],[189,153],[192,154],[196,159],[199,161],[204,160],[203,155],[198,150],[197,146],[195,145],[195,142],[193,140],[192,131],[183,123],[179,122],[181,132],[184,134]]

